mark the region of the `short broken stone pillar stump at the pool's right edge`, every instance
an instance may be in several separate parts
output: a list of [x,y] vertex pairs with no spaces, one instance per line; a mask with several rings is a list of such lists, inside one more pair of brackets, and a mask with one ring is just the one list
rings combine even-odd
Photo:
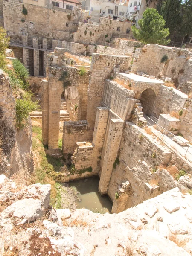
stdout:
[[118,189],[115,193],[115,199],[113,201],[111,213],[119,213],[126,210],[126,203],[128,201],[130,192],[131,184],[128,181],[118,186]]

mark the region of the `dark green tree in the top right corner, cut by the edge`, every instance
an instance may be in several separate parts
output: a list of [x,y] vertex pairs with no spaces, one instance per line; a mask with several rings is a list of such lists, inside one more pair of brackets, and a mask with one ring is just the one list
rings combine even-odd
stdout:
[[182,10],[182,23],[180,27],[180,34],[183,38],[188,35],[192,36],[192,0],[184,0]]

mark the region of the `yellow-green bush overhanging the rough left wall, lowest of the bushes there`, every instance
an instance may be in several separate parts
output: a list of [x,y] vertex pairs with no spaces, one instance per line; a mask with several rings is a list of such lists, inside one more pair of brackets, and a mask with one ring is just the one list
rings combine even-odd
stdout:
[[23,128],[28,121],[29,113],[38,109],[38,103],[32,102],[32,93],[25,92],[20,99],[15,100],[16,122],[19,128]]

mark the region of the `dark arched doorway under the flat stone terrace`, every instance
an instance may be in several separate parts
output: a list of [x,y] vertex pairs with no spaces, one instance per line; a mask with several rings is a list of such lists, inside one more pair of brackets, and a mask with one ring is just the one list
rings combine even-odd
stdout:
[[155,97],[156,95],[154,93],[154,90],[152,90],[151,88],[148,88],[144,90],[143,93],[141,93],[140,103],[141,103],[141,106],[143,107],[142,111],[147,116],[152,115]]

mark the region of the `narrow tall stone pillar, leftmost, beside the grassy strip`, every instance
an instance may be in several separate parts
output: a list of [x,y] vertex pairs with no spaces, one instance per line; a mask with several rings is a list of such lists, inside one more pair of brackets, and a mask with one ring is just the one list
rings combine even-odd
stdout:
[[42,80],[42,138],[43,144],[48,145],[49,131],[49,82]]

